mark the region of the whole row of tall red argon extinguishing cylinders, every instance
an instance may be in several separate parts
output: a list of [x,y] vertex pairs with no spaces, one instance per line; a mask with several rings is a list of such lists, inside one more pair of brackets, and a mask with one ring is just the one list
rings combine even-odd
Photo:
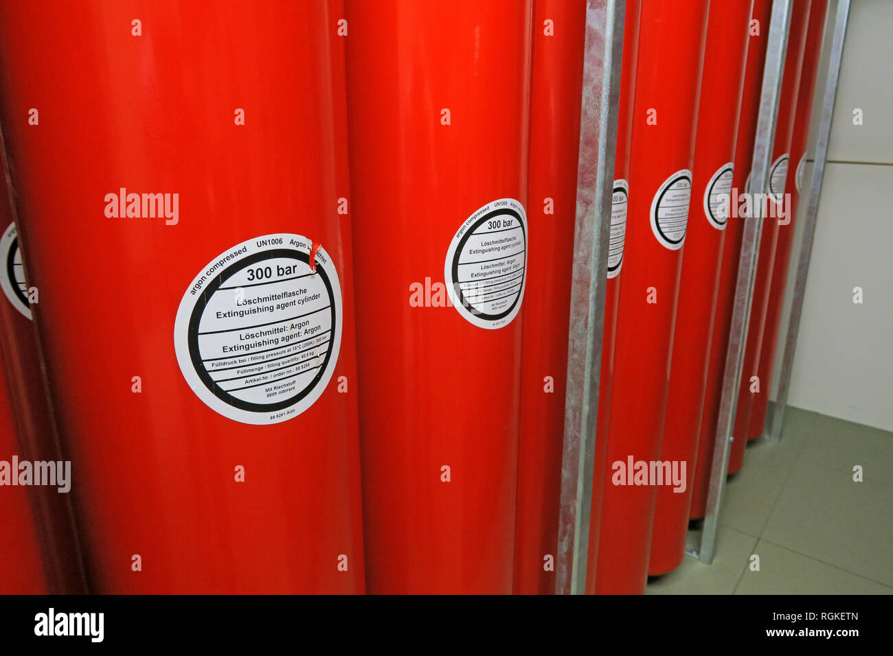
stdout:
[[[744,188],[770,4],[626,3],[588,592],[641,592],[703,515],[742,228],[705,190]],[[790,162],[824,4],[794,2]],[[554,592],[585,0],[88,5],[0,10],[4,228],[39,293],[33,321],[0,311],[0,460],[73,479],[0,487],[0,585]],[[125,216],[125,188],[182,215]],[[792,229],[764,227],[764,378]],[[258,245],[283,235],[313,246]],[[243,245],[328,285],[320,373],[296,370],[285,419],[189,350],[223,329],[193,305],[182,345],[174,326],[190,280],[222,303],[203,271],[255,275]],[[762,421],[761,389],[740,420]],[[684,492],[635,483],[660,460],[688,464]]]

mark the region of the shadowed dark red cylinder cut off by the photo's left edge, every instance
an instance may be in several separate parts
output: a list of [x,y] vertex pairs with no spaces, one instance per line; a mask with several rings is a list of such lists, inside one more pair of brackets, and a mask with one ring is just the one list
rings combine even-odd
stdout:
[[[0,141],[2,146],[2,141]],[[0,148],[2,150],[2,148]],[[43,370],[41,368],[38,345],[31,323],[30,300],[39,301],[39,290],[29,288],[25,278],[25,266],[21,260],[18,230],[13,223],[12,205],[5,180],[5,158],[0,170],[4,179],[0,182],[0,225],[4,228],[0,237],[0,353],[2,353],[5,384],[8,394],[0,394],[2,412],[9,415],[10,421],[3,420],[4,446],[0,459],[11,462],[16,455],[21,462],[29,462],[32,472],[38,471],[35,463],[41,463],[39,470],[53,471],[49,480],[41,477],[40,485],[23,487],[28,490],[31,511],[29,528],[14,527],[13,520],[3,526],[12,527],[6,532],[12,540],[19,536],[36,535],[42,554],[44,571],[39,580],[41,592],[78,594],[86,592],[83,566],[80,561],[74,524],[71,516],[71,467],[66,466],[59,450],[59,440],[49,405],[46,403]],[[12,444],[7,448],[7,444]],[[51,469],[46,469],[47,464]],[[10,471],[10,483],[18,473]],[[0,473],[0,479],[3,474]],[[64,482],[63,482],[64,479]],[[32,483],[38,483],[32,480]],[[5,493],[0,488],[0,499],[11,502],[20,492]],[[11,510],[11,509],[6,509]],[[33,512],[34,519],[30,520]],[[7,552],[8,553],[8,552]],[[28,570],[29,556],[21,556],[21,571]],[[14,564],[15,559],[2,558],[0,564]],[[0,580],[7,577],[0,575]],[[7,579],[8,580],[8,579]]]

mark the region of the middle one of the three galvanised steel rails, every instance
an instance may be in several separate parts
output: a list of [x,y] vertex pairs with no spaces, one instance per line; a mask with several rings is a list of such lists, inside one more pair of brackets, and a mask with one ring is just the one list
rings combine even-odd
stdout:
[[[759,119],[756,123],[754,163],[751,169],[753,178],[751,188],[745,190],[752,194],[766,194],[769,190],[772,142],[775,137],[775,123],[778,119],[781,78],[788,49],[792,6],[793,0],[775,0],[772,4],[772,21],[769,25]],[[762,206],[762,203],[751,204],[755,207]],[[744,238],[741,243],[738,282],[735,286],[735,305],[731,316],[729,349],[726,352],[725,371],[722,377],[722,396],[720,397],[719,419],[716,424],[714,460],[710,468],[710,486],[707,488],[707,508],[704,525],[701,528],[700,544],[697,548],[697,557],[708,565],[714,560],[716,529],[719,525],[722,493],[725,490],[726,474],[729,469],[729,449],[732,429],[735,426],[741,370],[744,366],[747,325],[750,322],[750,309],[754,297],[754,280],[757,257],[760,253],[763,219],[762,212],[755,212],[755,216],[747,220],[741,219],[744,220]]]

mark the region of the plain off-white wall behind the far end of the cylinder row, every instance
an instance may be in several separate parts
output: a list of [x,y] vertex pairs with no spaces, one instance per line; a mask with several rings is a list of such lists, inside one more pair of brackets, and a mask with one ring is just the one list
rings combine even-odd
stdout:
[[789,403],[893,430],[893,0],[852,0],[829,151]]

